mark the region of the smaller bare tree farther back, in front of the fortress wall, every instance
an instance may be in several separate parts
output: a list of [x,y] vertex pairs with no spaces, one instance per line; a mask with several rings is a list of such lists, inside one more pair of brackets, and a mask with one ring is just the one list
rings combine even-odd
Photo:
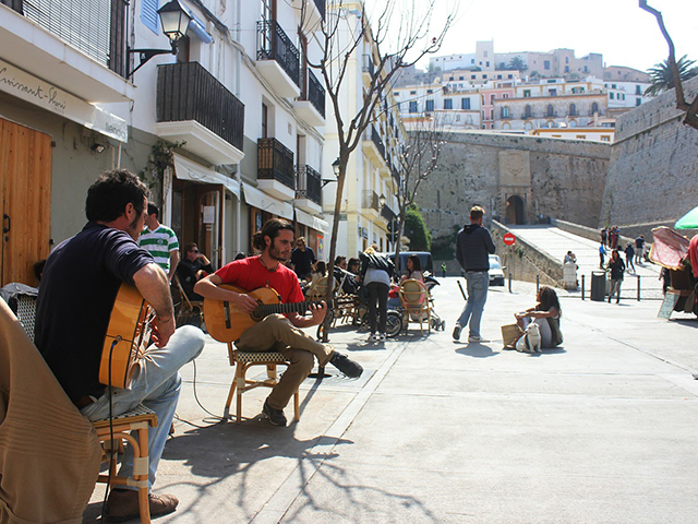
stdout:
[[397,194],[398,227],[395,246],[397,263],[400,238],[405,231],[407,210],[414,203],[420,186],[436,169],[438,157],[446,143],[438,119],[422,120],[408,132],[407,145],[399,155],[400,182]]

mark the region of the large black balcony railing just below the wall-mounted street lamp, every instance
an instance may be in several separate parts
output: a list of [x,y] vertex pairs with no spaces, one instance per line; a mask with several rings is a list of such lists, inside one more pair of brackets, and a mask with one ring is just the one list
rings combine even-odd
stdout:
[[156,120],[195,120],[242,151],[244,104],[198,62],[158,66]]

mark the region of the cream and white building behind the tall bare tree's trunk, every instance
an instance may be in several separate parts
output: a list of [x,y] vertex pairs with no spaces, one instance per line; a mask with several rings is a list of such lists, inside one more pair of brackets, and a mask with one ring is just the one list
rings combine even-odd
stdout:
[[[350,35],[361,32],[360,1],[345,1],[340,13],[328,12],[328,16],[340,15],[337,32],[340,48],[348,44]],[[345,122],[350,121],[363,105],[363,92],[371,85],[371,79],[378,74],[378,57],[372,33],[366,25],[364,38],[352,51],[349,68],[341,87],[341,115]],[[338,224],[337,254],[357,257],[359,252],[375,243],[381,251],[389,248],[388,222],[394,219],[398,210],[397,191],[399,182],[398,157],[405,142],[405,128],[400,121],[393,92],[382,94],[381,104],[374,111],[361,139],[361,144],[350,155],[347,175],[341,194]],[[325,129],[325,151],[323,165],[329,169],[338,158],[338,135],[334,115],[327,115]],[[332,223],[337,187],[334,183],[323,190],[323,210]],[[384,202],[384,203],[382,203]]]

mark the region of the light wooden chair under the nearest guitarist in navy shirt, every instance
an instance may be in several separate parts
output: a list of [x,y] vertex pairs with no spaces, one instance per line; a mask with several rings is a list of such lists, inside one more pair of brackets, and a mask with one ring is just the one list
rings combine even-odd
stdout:
[[[36,297],[20,295],[17,297],[17,319],[34,340],[36,317]],[[134,409],[112,418],[93,420],[97,431],[97,439],[103,446],[103,462],[109,463],[111,475],[100,474],[98,483],[109,483],[113,486],[136,487],[139,490],[139,512],[143,524],[151,523],[151,508],[148,496],[148,428],[157,426],[157,415],[152,409],[139,404]],[[133,448],[133,476],[119,477],[117,475],[118,455],[123,454],[123,442]]]

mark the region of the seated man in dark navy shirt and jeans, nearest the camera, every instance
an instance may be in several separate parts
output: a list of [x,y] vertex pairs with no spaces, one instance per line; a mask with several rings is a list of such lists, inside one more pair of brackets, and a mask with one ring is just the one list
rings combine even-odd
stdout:
[[[204,348],[204,334],[193,326],[174,331],[172,300],[165,272],[136,243],[143,230],[148,189],[125,169],[108,171],[87,191],[87,225],[50,254],[36,310],[35,343],[59,383],[91,420],[133,409],[140,403],[157,414],[149,431],[151,486],[165,448],[181,389],[178,370]],[[130,389],[99,383],[107,326],[122,283],[135,285],[155,310],[155,345],[136,364]],[[110,394],[109,394],[110,393]],[[130,448],[130,446],[129,446]],[[127,450],[120,471],[130,476],[133,453]],[[135,489],[135,488],[134,488]],[[137,491],[112,489],[107,521],[139,516]],[[151,495],[151,515],[171,513],[178,500]]]

